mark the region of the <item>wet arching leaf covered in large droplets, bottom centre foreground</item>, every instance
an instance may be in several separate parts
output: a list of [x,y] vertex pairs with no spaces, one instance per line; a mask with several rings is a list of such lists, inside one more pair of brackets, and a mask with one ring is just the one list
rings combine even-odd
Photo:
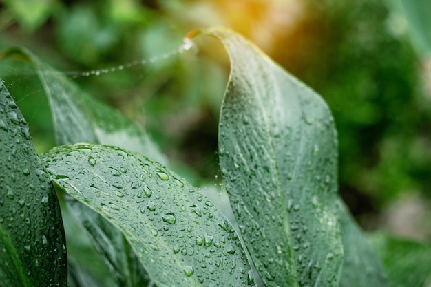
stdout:
[[199,189],[139,153],[91,144],[43,156],[55,184],[123,232],[157,286],[247,286],[229,221]]

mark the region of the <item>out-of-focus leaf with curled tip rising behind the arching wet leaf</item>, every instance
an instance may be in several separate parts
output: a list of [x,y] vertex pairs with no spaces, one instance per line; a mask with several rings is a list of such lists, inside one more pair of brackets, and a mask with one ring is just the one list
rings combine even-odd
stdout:
[[25,48],[10,49],[3,54],[34,65],[50,102],[57,145],[75,142],[115,145],[167,163],[141,127],[81,91],[62,72],[43,63]]

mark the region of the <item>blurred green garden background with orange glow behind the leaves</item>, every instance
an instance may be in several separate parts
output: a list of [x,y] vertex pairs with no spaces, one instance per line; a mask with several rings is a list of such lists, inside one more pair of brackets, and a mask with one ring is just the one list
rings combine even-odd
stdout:
[[[162,56],[194,28],[233,28],[330,106],[339,135],[339,192],[359,223],[430,240],[431,48],[421,41],[424,31],[412,29],[418,11],[406,10],[402,0],[3,0],[0,48],[23,45],[64,72],[156,57],[74,81],[145,126],[178,173],[194,184],[217,184],[227,56],[204,36],[194,50]],[[52,123],[34,72],[0,61],[0,76],[17,97],[36,149],[50,149]]]

